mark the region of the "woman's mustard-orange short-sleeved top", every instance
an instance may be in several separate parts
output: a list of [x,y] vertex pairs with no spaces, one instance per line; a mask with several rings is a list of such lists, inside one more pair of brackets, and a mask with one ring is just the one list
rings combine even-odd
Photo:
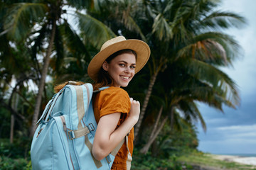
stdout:
[[[119,122],[117,123],[117,128],[121,125],[124,120],[129,115],[131,109],[131,102],[129,100],[129,95],[127,91],[119,87],[111,86],[108,89],[98,92],[93,96],[93,110],[95,113],[95,119],[98,123],[103,115],[108,115],[111,113],[121,113]],[[133,140],[134,140],[134,128],[129,133],[128,136],[128,148],[132,155],[133,151]],[[117,153],[112,169],[122,170],[127,169],[127,155],[128,150],[126,147],[126,142],[122,145],[121,149]]]

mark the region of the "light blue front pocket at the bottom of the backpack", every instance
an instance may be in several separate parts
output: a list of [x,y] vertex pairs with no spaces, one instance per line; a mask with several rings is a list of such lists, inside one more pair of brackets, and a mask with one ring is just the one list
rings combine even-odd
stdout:
[[36,170],[73,169],[68,141],[60,117],[40,123],[31,145],[32,168]]

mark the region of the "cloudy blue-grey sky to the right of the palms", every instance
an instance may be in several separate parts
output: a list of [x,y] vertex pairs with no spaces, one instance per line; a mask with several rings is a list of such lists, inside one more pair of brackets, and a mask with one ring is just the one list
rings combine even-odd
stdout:
[[224,107],[224,113],[200,103],[207,131],[198,127],[198,149],[211,154],[256,154],[256,1],[223,0],[219,7],[244,16],[247,26],[228,30],[242,46],[243,57],[233,68],[223,69],[238,85],[240,106]]

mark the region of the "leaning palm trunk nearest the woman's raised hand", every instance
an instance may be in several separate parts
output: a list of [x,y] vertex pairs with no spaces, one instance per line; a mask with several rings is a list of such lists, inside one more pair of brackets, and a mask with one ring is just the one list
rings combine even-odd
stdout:
[[153,86],[155,84],[155,81],[156,81],[156,77],[157,77],[157,74],[158,72],[156,72],[150,79],[150,83],[149,83],[149,87],[148,87],[148,90],[146,91],[146,97],[144,99],[144,103],[143,103],[143,106],[142,106],[142,111],[139,115],[139,120],[134,128],[134,139],[137,140],[137,136],[139,134],[139,128],[141,127],[142,125],[142,120],[144,118],[144,115],[146,113],[146,107],[149,103],[149,98],[151,96],[151,92],[152,92],[152,89],[153,89]]

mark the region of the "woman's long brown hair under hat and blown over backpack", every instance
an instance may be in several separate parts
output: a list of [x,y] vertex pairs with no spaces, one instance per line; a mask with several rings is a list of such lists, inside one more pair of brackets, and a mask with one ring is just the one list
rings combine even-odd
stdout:
[[[110,55],[110,57],[107,57],[106,62],[110,63],[111,60],[114,59],[114,57],[117,57],[117,55],[122,55],[124,53],[134,55],[135,59],[137,60],[137,54],[136,54],[136,52],[134,52],[134,50],[124,49],[124,50],[119,50],[117,52],[114,52],[114,54]],[[82,81],[74,81],[74,82],[75,82],[75,85],[84,84],[84,82],[82,82]],[[54,87],[54,92],[58,93],[58,91],[60,91],[60,89],[63,89],[63,87],[67,84],[68,84],[68,81],[66,81],[63,84],[58,84],[57,86]],[[108,74],[108,72],[106,72],[101,67],[100,72],[98,73],[97,80],[95,81],[94,84],[92,84],[92,86],[93,86],[93,90],[97,90],[97,89],[99,89],[100,87],[103,87],[103,86],[114,86],[114,80],[112,79],[112,77],[110,77],[110,74]]]

